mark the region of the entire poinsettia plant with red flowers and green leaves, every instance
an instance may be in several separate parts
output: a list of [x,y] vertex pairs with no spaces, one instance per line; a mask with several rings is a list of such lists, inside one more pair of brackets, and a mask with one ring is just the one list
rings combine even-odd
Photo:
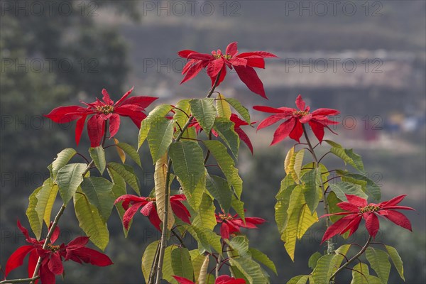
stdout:
[[[112,265],[109,256],[88,246],[97,246],[102,251],[107,248],[107,222],[114,207],[123,223],[125,236],[131,234],[131,226],[141,226],[135,219],[137,212],[148,217],[161,232],[160,239],[148,244],[142,253],[141,267],[146,283],[158,284],[163,280],[180,284],[270,283],[267,269],[276,274],[274,263],[253,248],[244,234],[246,229],[257,229],[266,220],[246,217],[243,181],[236,166],[241,141],[253,154],[253,145],[245,129],[256,122],[251,121],[249,110],[241,102],[225,97],[217,92],[217,87],[226,79],[227,68],[234,69],[251,92],[266,98],[263,83],[254,68],[264,68],[265,58],[276,56],[265,51],[239,53],[237,43],[230,43],[225,53],[217,50],[210,55],[182,50],[178,55],[187,59],[181,83],[207,70],[212,85],[206,97],[158,104],[146,113],[156,97],[132,97],[131,88],[114,102],[103,89],[102,99],[82,102],[85,107],[57,107],[46,115],[56,123],[77,121],[77,146],[87,121],[91,144],[89,157],[74,148],[65,148],[48,165],[50,176],[30,195],[26,212],[35,238],[18,222],[28,245],[16,249],[6,263],[4,276],[9,277],[11,271],[23,265],[28,255],[28,278],[4,279],[1,284],[55,283],[57,275],[65,277],[64,262],[69,260],[95,266]],[[327,242],[326,252],[314,255],[315,261],[310,261],[313,263],[310,275],[296,276],[289,283],[307,283],[307,280],[333,283],[338,273],[364,253],[380,279],[368,273],[365,263],[357,263],[351,268],[354,283],[361,283],[357,282],[361,278],[386,283],[390,266],[386,266],[388,270],[380,268],[379,272],[377,263],[388,261],[388,256],[403,278],[402,262],[398,261],[396,250],[385,246],[386,253],[371,246],[379,229],[378,217],[411,230],[410,221],[397,210],[412,208],[398,205],[403,196],[378,202],[380,189],[367,178],[361,157],[338,143],[324,140],[325,129],[334,133],[330,126],[338,124],[333,116],[339,111],[325,108],[311,111],[300,95],[296,106],[297,109],[254,107],[271,114],[258,124],[258,130],[280,122],[271,144],[288,137],[297,141],[285,158],[286,176],[276,195],[275,206],[275,221],[290,258],[295,258],[296,240],[319,222],[318,212],[326,219],[327,231],[322,240]],[[129,117],[138,127],[136,147],[116,138],[120,116]],[[319,141],[315,146],[309,138],[310,130]],[[302,136],[305,142],[301,142]],[[134,165],[142,166],[138,151],[145,144],[148,144],[154,167],[153,190],[141,187],[136,171],[127,163],[131,159]],[[359,173],[346,169],[327,170],[321,163],[324,156],[318,159],[315,152],[317,146],[324,144],[331,146],[327,153],[333,153]],[[296,151],[296,147],[301,149]],[[114,162],[111,155],[114,148],[121,163]],[[305,150],[312,155],[313,161],[303,165]],[[336,176],[329,178],[331,173]],[[368,203],[368,198],[378,203]],[[51,218],[57,199],[62,200],[62,206]],[[58,224],[71,201],[79,226],[87,236],[56,245]],[[320,203],[324,210],[320,209]],[[349,258],[351,245],[336,249],[332,237],[354,234],[362,219],[366,221],[370,237]],[[48,227],[48,234],[40,239],[43,226]],[[197,242],[197,249],[188,249],[185,236]]]

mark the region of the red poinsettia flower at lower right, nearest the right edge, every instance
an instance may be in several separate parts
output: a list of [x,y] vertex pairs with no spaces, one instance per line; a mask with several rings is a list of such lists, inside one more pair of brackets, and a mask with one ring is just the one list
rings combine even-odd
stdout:
[[385,217],[398,226],[402,226],[403,228],[412,231],[410,220],[405,217],[404,214],[395,211],[398,209],[414,210],[411,207],[398,205],[398,203],[400,203],[405,196],[406,195],[400,195],[379,204],[367,204],[367,200],[364,200],[364,198],[358,197],[356,195],[346,195],[348,202],[337,203],[337,206],[346,210],[346,212],[325,214],[322,216],[327,217],[330,215],[346,215],[346,217],[339,219],[337,222],[332,224],[332,226],[329,226],[327,231],[325,231],[324,236],[322,237],[321,243],[327,241],[327,239],[330,239],[337,234],[342,235],[346,233],[346,231],[349,231],[349,236],[351,236],[351,234],[354,234],[354,232],[358,229],[359,224],[361,223],[361,219],[366,221],[366,229],[368,234],[374,238],[376,237],[379,229],[378,216]]

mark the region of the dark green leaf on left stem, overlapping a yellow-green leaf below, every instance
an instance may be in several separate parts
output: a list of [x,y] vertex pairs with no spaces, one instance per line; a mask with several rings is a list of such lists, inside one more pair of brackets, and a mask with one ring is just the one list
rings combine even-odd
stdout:
[[105,178],[90,177],[84,178],[80,187],[89,202],[97,207],[102,221],[107,222],[116,200],[112,192],[113,184]]

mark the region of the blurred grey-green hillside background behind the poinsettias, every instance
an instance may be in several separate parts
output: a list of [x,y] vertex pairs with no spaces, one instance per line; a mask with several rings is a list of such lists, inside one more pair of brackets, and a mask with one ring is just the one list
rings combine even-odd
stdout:
[[[339,109],[342,124],[336,129],[339,136],[332,138],[362,155],[370,178],[381,185],[383,200],[406,193],[404,205],[417,210],[408,213],[414,234],[381,222],[386,236],[381,234],[378,241],[386,240],[400,251],[406,283],[425,283],[426,1],[2,0],[0,4],[3,267],[12,251],[24,244],[16,219],[29,226],[28,195],[48,176],[46,166],[56,153],[75,147],[75,124],[52,124],[43,114],[79,100],[92,102],[101,97],[102,88],[114,100],[133,85],[133,94],[160,97],[162,103],[203,97],[209,78],[204,72],[180,85],[185,62],[177,51],[209,53],[238,41],[240,52],[267,50],[280,57],[258,71],[269,101],[249,92],[232,72],[219,91],[250,109],[255,104],[294,107],[297,94],[313,109]],[[263,119],[253,111],[252,117]],[[116,137],[136,145],[137,133],[131,121],[123,119]],[[279,239],[273,206],[291,142],[269,147],[273,129],[248,133],[254,156],[241,146],[243,198],[249,216],[269,222],[247,233],[251,245],[275,261],[279,275],[271,275],[272,283],[286,283],[293,275],[309,272],[307,259],[319,248],[321,234],[308,232],[297,245],[295,263],[290,261]],[[84,131],[78,150],[88,146]],[[118,159],[114,151],[109,157]],[[145,168],[139,170],[140,180],[148,194],[153,187],[148,148],[141,150],[141,157]],[[340,166],[332,158],[325,163],[328,168]],[[72,209],[65,211],[60,241],[81,234],[73,215]],[[113,212],[106,253],[116,264],[80,268],[66,263],[65,282],[143,283],[140,259],[159,234],[146,218],[138,216],[135,222],[138,226],[133,225],[124,239]],[[363,237],[359,234],[361,241]],[[13,275],[25,273],[22,269]],[[390,283],[401,283],[395,271]]]

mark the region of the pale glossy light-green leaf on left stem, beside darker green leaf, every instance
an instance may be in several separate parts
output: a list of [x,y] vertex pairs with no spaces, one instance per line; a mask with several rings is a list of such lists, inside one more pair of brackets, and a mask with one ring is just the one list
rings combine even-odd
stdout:
[[65,165],[58,170],[55,182],[58,184],[60,197],[62,197],[65,205],[71,200],[77,187],[82,183],[83,173],[86,168],[86,164],[75,163]]

